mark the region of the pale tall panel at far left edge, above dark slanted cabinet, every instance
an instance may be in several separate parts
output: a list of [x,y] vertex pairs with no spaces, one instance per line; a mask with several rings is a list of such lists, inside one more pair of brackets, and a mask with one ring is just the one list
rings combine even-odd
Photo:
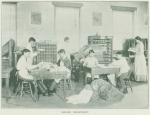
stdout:
[[1,45],[3,46],[10,39],[16,40],[16,4],[3,3],[1,13]]

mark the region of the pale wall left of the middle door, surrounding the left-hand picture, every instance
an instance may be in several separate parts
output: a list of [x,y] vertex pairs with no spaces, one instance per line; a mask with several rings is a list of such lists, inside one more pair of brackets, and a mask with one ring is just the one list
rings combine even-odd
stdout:
[[[37,40],[54,38],[54,6],[51,2],[19,2],[17,4],[17,44],[26,46],[29,37]],[[41,24],[31,24],[31,12],[41,13]]]

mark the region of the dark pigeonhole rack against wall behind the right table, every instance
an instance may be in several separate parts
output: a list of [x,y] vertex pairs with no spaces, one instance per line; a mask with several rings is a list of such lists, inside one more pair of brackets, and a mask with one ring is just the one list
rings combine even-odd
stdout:
[[88,36],[88,45],[95,51],[100,64],[112,62],[112,36]]

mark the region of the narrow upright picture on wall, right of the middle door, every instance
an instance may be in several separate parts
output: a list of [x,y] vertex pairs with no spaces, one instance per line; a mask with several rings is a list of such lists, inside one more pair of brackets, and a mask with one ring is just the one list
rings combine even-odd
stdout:
[[93,12],[93,26],[101,26],[101,25],[102,25],[102,13]]

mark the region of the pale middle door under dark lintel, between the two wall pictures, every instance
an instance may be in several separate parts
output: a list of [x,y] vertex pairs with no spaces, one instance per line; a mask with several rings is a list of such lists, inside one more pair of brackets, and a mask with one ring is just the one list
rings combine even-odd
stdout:
[[64,38],[69,37],[70,52],[79,49],[79,8],[56,7],[55,32],[58,50],[64,47]]

